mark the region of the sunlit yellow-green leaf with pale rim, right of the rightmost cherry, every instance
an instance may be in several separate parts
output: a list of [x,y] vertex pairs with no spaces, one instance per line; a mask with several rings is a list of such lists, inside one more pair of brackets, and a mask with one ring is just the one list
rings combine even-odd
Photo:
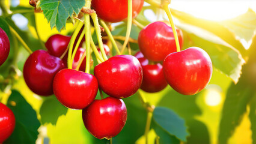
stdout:
[[245,60],[240,52],[224,40],[197,26],[178,24],[184,35],[192,41],[191,46],[200,47],[210,55],[213,65],[228,77],[238,82]]

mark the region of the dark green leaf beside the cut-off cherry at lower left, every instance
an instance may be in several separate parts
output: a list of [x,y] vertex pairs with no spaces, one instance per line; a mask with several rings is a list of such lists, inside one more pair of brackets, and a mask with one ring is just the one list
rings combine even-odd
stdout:
[[12,91],[7,106],[13,111],[16,126],[5,143],[35,143],[40,122],[37,113],[17,91]]

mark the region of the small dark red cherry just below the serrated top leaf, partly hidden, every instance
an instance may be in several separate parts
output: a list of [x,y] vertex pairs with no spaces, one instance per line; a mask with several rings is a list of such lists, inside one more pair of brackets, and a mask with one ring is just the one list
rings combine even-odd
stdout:
[[55,34],[48,38],[45,46],[50,55],[60,57],[67,49],[70,38],[69,36]]

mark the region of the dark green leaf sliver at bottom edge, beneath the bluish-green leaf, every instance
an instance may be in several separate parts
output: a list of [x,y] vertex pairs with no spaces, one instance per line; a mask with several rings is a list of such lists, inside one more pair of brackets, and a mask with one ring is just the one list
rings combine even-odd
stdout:
[[156,124],[156,122],[152,122],[152,127],[154,128],[154,131],[156,132],[157,136],[160,137],[159,144],[179,144],[180,140],[178,140],[175,136],[172,136],[165,130],[163,130],[162,127]]

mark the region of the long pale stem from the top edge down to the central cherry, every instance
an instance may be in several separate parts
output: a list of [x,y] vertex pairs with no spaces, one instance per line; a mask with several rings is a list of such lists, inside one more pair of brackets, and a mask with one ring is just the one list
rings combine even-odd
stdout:
[[130,31],[132,30],[132,0],[128,0],[128,14],[127,14],[127,29],[126,29],[126,40],[124,40],[123,48],[121,53],[124,52],[126,45],[130,38]]

